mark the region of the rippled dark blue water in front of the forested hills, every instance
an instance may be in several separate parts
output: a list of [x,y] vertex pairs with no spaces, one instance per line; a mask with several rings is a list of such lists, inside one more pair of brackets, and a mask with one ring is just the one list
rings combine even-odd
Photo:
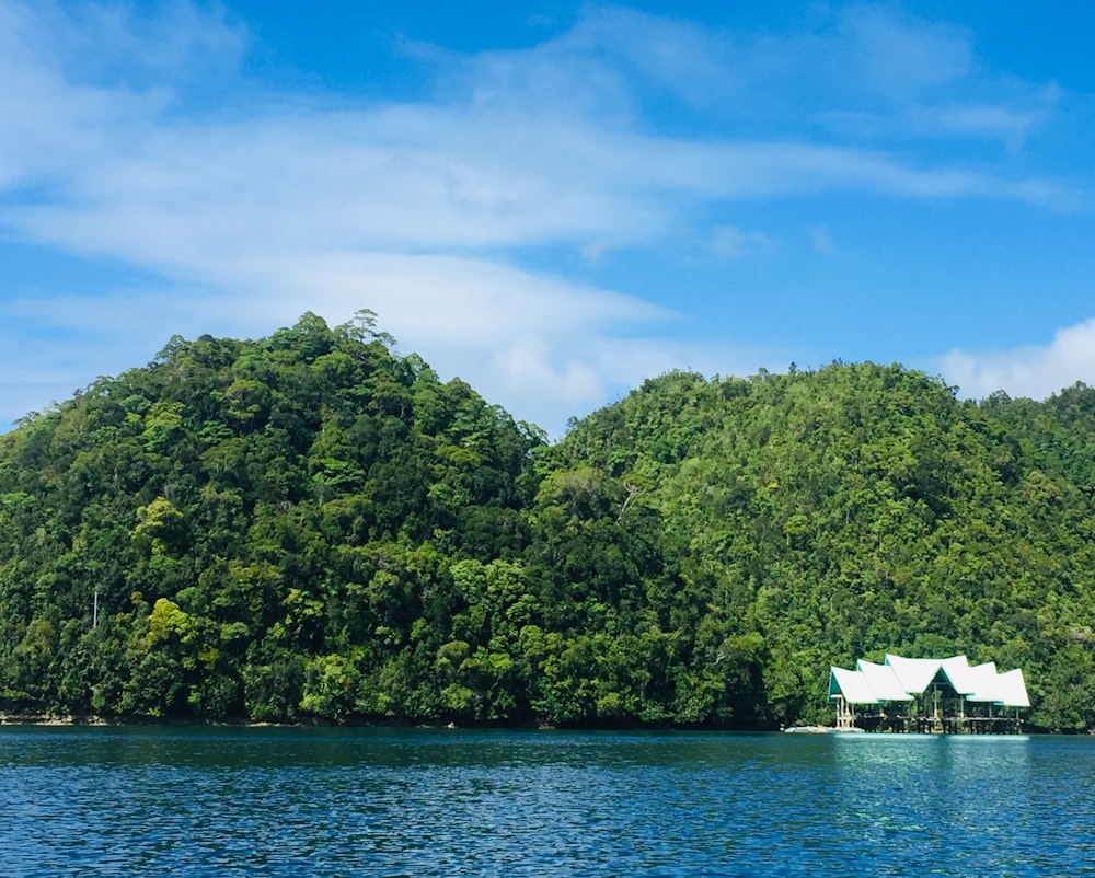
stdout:
[[1095,876],[1095,740],[0,727],[0,875]]

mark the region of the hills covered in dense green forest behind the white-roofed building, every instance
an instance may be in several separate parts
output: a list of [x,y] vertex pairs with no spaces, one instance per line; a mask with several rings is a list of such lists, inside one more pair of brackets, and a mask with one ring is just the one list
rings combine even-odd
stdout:
[[362,312],[0,438],[0,711],[775,727],[965,652],[1095,726],[1095,390],[673,372],[542,431]]

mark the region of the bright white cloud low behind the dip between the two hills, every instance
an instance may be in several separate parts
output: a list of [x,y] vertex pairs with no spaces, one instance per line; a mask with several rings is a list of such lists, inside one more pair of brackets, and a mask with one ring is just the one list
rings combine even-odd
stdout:
[[[345,253],[273,267],[276,296],[251,307],[291,322],[303,303],[332,322],[376,311],[399,349],[422,353],[515,417],[552,435],[574,415],[673,365],[638,337],[672,312],[631,297],[497,264],[450,256]],[[241,303],[244,308],[249,305]]]

